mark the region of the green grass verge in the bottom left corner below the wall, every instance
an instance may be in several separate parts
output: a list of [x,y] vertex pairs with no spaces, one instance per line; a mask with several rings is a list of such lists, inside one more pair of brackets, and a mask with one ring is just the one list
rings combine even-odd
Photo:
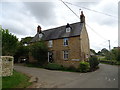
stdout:
[[26,88],[32,84],[28,80],[25,74],[13,71],[12,76],[2,77],[2,88]]

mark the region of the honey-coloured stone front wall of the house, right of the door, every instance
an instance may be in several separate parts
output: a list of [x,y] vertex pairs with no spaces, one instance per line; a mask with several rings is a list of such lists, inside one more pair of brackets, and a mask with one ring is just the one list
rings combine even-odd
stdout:
[[[82,60],[79,36],[68,38],[68,46],[63,45],[63,39],[53,40],[53,47],[49,48],[49,50],[53,52],[54,62],[66,67],[77,67]],[[69,58],[67,60],[63,58],[64,50],[68,50],[69,52]]]

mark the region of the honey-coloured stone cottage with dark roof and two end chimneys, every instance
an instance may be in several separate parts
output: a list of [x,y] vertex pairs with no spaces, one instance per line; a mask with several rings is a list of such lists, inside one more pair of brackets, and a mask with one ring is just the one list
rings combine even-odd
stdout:
[[[80,61],[87,61],[90,56],[89,37],[85,26],[85,16],[80,15],[80,22],[41,31],[37,27],[37,34],[31,43],[45,40],[49,47],[48,62],[69,67],[77,67]],[[30,62],[32,59],[30,58]]]

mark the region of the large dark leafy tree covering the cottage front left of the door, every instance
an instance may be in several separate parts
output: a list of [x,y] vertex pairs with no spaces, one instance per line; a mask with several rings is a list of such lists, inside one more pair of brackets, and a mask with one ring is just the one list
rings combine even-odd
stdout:
[[47,53],[48,48],[43,41],[33,43],[31,46],[31,54],[36,60],[38,60],[40,65],[47,62]]

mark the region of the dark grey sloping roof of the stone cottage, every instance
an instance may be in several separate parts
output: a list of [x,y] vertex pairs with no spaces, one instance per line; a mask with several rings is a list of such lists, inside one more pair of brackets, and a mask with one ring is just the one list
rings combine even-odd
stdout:
[[[52,28],[48,30],[42,31],[43,33],[43,40],[53,40],[53,39],[60,39],[60,38],[65,38],[65,37],[74,37],[74,36],[79,36],[82,30],[83,23],[77,22],[70,24],[71,31],[66,32],[66,25],[57,27],[57,28]],[[31,40],[31,42],[35,42],[39,40],[39,34],[37,33],[35,37]]]

